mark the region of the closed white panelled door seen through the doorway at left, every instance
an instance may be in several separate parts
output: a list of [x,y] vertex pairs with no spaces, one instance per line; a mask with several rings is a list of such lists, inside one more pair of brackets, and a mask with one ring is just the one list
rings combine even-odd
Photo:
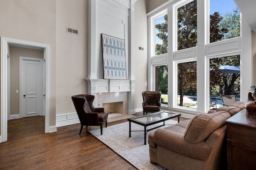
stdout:
[[42,112],[42,59],[20,57],[20,115]]

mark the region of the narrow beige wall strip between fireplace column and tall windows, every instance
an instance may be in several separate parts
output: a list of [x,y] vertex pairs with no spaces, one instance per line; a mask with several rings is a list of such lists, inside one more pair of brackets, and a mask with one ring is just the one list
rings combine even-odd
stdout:
[[[134,108],[142,108],[142,92],[147,91],[148,75],[148,33],[147,33],[147,15],[145,0],[135,2],[135,34],[134,34],[134,59],[135,59],[135,101]],[[143,47],[144,51],[139,50]]]

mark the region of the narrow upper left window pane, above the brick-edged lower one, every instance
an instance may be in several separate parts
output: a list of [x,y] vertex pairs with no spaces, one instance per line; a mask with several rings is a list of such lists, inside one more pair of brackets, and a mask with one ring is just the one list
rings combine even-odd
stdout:
[[168,50],[168,16],[155,20],[155,55],[167,53]]

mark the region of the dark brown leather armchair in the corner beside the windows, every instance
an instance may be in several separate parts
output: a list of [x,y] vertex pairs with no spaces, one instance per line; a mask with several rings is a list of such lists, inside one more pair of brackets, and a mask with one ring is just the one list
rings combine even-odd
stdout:
[[142,92],[143,97],[143,115],[160,111],[161,107],[161,92]]

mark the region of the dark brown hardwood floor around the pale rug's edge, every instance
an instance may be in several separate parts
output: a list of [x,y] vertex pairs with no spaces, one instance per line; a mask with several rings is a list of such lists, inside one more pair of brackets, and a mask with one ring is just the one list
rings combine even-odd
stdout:
[[[108,126],[125,121],[110,122]],[[136,170],[88,131],[96,128],[100,127],[84,127],[79,135],[80,124],[74,124],[44,133],[44,116],[10,120],[8,140],[0,143],[0,170]]]

